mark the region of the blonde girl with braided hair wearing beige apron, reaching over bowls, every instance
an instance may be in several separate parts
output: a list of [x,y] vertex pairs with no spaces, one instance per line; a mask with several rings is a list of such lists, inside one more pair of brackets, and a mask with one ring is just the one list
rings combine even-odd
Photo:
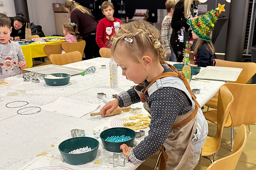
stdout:
[[163,145],[163,152],[168,155],[165,169],[193,169],[208,126],[184,74],[165,63],[162,44],[159,31],[146,21],[121,25],[112,42],[113,59],[126,79],[144,85],[121,92],[102,107],[102,114],[106,110],[112,113],[117,106],[144,102],[151,115],[148,136],[135,147],[121,145],[123,154],[132,162],[141,163]]

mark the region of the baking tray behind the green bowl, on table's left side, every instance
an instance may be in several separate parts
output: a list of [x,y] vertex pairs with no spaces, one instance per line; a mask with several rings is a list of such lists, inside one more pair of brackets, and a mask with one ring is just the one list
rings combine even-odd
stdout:
[[66,73],[70,75],[80,74],[82,71],[84,71],[83,69],[77,69],[77,68],[67,67],[63,65],[55,65],[55,64],[42,65],[42,66],[32,67],[24,70],[33,71],[38,74]]

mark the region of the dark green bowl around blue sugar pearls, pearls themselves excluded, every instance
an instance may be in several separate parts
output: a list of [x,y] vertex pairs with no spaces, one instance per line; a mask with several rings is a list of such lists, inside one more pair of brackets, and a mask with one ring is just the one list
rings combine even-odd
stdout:
[[[130,136],[132,139],[129,141],[124,141],[124,142],[108,142],[108,141],[106,141],[107,137],[117,136],[117,135],[118,136],[122,136],[122,135]],[[132,129],[126,128],[126,127],[109,128],[100,133],[100,139],[102,141],[104,148],[110,152],[122,152],[122,150],[120,149],[120,146],[124,143],[127,146],[132,147],[134,140],[135,140],[135,136],[136,136],[135,131],[133,131]]]

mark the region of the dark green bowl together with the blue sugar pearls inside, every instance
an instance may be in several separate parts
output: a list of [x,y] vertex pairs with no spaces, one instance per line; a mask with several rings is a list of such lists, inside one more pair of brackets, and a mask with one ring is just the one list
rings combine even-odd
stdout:
[[132,147],[135,137],[135,131],[126,127],[109,128],[100,133],[104,148],[110,152],[122,152],[120,146],[124,143]]

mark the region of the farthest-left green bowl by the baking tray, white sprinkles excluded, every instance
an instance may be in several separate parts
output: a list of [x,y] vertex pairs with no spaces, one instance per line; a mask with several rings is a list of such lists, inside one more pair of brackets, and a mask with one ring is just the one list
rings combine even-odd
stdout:
[[46,75],[44,75],[43,79],[46,82],[46,84],[48,86],[64,86],[66,84],[69,83],[70,74],[66,74],[66,73],[53,73],[53,74],[47,74],[47,75],[54,75],[56,77],[63,77],[61,79],[49,79],[49,78],[45,78]]

